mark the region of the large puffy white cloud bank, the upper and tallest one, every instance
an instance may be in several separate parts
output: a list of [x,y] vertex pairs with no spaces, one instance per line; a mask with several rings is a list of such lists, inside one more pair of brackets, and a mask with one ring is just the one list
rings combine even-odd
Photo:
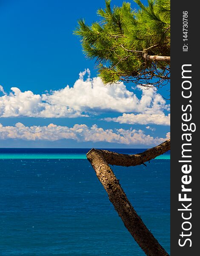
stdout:
[[[86,73],[88,78],[84,80]],[[73,87],[67,85],[41,95],[30,90],[22,92],[17,87],[12,87],[11,93],[6,94],[0,87],[4,94],[0,97],[0,117],[78,117],[108,111],[163,115],[163,110],[169,110],[166,101],[152,88],[140,89],[142,96],[139,99],[123,83],[105,86],[99,77],[91,79],[89,70],[79,75]]]

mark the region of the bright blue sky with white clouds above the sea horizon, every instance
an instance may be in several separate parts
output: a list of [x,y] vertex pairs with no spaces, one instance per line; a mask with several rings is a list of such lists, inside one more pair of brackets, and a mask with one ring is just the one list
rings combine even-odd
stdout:
[[0,147],[146,148],[169,137],[169,92],[105,87],[73,35],[79,18],[91,24],[104,6],[0,2]]

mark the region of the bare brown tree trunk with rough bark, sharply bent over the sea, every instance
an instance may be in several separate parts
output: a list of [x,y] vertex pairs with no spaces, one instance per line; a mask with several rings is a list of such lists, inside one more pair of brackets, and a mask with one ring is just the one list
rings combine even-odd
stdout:
[[92,148],[87,153],[87,158],[94,168],[98,179],[109,195],[109,200],[114,205],[125,227],[147,256],[169,256],[163,247],[154,238],[153,234],[145,226],[140,216],[132,207],[119,181],[115,177],[111,165],[136,166],[149,161],[170,149],[170,140],[150,148],[143,153],[126,155],[107,150]]

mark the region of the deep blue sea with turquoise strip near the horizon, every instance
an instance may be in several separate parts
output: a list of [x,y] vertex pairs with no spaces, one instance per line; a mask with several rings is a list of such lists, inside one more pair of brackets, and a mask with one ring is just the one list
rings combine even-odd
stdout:
[[[109,149],[136,154],[144,149]],[[89,149],[0,148],[1,256],[144,256],[86,159]],[[112,167],[170,252],[170,154]]]

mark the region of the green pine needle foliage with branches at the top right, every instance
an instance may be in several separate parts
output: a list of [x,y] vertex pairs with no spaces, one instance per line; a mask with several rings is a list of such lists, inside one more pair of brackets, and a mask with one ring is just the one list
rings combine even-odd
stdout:
[[[134,81],[160,87],[170,79],[170,1],[135,0],[111,9],[99,9],[100,21],[91,26],[78,21],[74,34],[80,37],[83,52],[95,59],[105,84]],[[160,58],[157,58],[157,57]]]

